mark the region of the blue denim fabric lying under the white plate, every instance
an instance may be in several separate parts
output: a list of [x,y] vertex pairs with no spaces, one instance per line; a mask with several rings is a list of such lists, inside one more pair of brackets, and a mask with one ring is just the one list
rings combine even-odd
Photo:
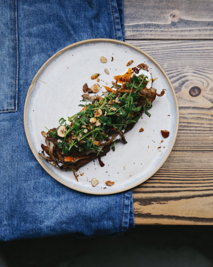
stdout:
[[0,240],[134,227],[132,191],[89,195],[58,183],[36,161],[23,125],[28,88],[49,57],[83,39],[124,40],[122,0],[0,0],[0,25]]

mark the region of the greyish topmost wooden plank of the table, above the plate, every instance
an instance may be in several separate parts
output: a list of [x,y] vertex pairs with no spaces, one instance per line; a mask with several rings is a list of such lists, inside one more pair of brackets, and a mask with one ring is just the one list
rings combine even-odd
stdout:
[[213,39],[212,0],[124,0],[126,39]]

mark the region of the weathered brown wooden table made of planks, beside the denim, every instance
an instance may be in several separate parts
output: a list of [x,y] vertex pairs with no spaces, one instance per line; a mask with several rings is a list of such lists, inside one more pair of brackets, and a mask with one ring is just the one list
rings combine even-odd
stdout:
[[135,223],[213,225],[213,0],[124,0],[124,25],[169,76],[180,111],[173,151],[133,190]]

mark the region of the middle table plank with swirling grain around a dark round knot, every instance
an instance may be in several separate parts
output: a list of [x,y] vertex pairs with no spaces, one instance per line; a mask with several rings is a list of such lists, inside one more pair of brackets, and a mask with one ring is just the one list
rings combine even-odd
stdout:
[[[154,57],[169,76],[180,111],[174,150],[213,150],[213,41],[128,41]],[[189,90],[198,86],[200,95]]]

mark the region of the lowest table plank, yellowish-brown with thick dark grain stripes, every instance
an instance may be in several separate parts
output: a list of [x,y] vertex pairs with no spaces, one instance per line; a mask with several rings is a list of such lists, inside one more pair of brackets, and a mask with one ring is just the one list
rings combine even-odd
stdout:
[[213,152],[173,151],[133,199],[136,224],[213,225]]

